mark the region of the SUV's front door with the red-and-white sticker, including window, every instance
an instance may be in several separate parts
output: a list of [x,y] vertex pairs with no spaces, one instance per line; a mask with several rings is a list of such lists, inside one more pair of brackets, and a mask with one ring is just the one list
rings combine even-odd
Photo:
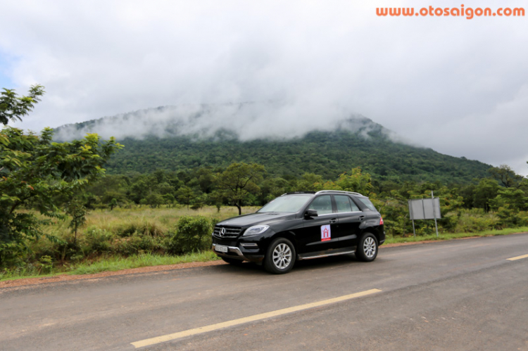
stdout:
[[313,199],[307,210],[316,210],[317,217],[303,220],[303,234],[298,237],[299,254],[317,253],[323,255],[328,250],[338,248],[337,213],[334,213],[332,196],[322,195]]

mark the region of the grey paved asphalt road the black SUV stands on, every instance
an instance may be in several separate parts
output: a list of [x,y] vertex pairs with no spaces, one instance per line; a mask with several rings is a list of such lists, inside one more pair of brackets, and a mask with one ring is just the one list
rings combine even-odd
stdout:
[[[0,350],[528,350],[528,234],[0,289]],[[221,328],[256,314],[379,289]],[[135,344],[139,345],[139,344]]]

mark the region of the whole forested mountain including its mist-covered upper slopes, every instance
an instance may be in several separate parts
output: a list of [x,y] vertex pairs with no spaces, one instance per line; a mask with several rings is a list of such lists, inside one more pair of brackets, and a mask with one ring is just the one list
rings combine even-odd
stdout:
[[[264,165],[268,174],[280,177],[310,172],[334,179],[353,167],[361,167],[379,180],[467,183],[486,177],[491,167],[394,141],[389,130],[363,116],[334,121],[333,129],[327,125],[323,130],[301,136],[268,137],[263,130],[264,137],[260,139],[241,140],[239,135],[245,135],[244,124],[212,125],[214,112],[209,106],[182,117],[182,108],[143,110],[66,125],[58,128],[56,135],[58,139],[79,137],[87,132],[104,137],[115,135],[125,148],[109,162],[107,169],[111,174],[256,162]],[[243,117],[244,106],[232,113]],[[171,114],[177,117],[172,118]],[[250,124],[248,128],[255,127]],[[142,130],[139,136],[134,135],[139,129]]]

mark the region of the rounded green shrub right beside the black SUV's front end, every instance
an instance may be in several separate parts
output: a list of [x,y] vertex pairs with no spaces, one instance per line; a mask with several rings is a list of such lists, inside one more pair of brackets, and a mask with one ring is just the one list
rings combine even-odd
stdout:
[[210,248],[213,224],[203,216],[184,216],[177,223],[172,236],[170,251],[172,253],[193,253]]

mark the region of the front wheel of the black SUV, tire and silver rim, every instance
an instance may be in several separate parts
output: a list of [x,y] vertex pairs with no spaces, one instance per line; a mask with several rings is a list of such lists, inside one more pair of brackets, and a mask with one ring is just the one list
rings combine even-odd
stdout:
[[291,271],[295,264],[295,247],[287,238],[276,238],[268,246],[264,257],[264,268],[273,274]]

